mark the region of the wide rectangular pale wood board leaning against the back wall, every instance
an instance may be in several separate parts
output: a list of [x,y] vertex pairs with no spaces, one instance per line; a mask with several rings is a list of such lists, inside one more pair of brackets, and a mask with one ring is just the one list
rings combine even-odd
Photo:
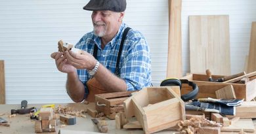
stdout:
[[230,75],[228,15],[189,16],[190,72]]

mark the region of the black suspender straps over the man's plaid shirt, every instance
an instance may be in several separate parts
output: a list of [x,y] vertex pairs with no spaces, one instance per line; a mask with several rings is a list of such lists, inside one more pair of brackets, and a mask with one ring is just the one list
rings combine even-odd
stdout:
[[[117,60],[116,60],[116,72],[115,73],[117,76],[119,76],[119,61],[120,61],[120,57],[121,57],[121,52],[123,50],[123,43],[125,42],[125,37],[130,29],[131,29],[130,27],[126,27],[125,31],[123,31],[123,36],[121,39],[121,43],[120,43],[120,47],[119,47],[118,55],[117,55]],[[95,59],[97,59],[97,52],[98,52],[98,47],[95,44],[95,46],[93,48],[93,56],[95,57]]]

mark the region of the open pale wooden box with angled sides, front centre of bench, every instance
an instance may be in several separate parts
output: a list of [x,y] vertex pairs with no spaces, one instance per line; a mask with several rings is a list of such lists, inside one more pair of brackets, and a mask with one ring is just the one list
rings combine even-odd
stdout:
[[177,126],[185,119],[184,102],[171,88],[150,87],[135,93],[125,101],[125,116],[134,114],[145,133]]

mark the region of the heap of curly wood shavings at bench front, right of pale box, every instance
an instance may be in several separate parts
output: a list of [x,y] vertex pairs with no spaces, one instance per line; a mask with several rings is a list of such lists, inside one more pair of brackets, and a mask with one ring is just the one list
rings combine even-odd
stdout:
[[182,133],[194,134],[196,130],[202,126],[221,127],[222,125],[211,120],[207,120],[205,116],[194,116],[189,120],[182,120],[178,123],[179,129]]

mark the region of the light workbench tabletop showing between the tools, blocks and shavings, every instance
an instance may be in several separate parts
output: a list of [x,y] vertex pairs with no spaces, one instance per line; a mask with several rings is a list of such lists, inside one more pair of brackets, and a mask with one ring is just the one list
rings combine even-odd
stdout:
[[[28,108],[36,107],[40,109],[42,105],[45,104],[28,104]],[[90,103],[89,105],[85,105],[83,103],[68,103],[68,104],[55,104],[55,107],[58,105],[72,107],[74,110],[87,110],[87,108],[95,109],[95,103]],[[17,133],[35,133],[34,125],[35,120],[30,119],[30,114],[16,114],[16,117],[9,118],[11,114],[11,109],[20,109],[20,105],[0,105],[0,117],[7,120],[11,126],[5,127],[0,126],[0,133],[3,134],[17,134]],[[3,115],[2,115],[3,114]],[[91,116],[85,114],[87,117],[76,117],[76,124],[72,126],[60,127],[62,124],[58,121],[57,131],[53,133],[58,133],[58,130],[61,129],[61,132],[68,133],[69,130],[75,130],[77,133],[95,133],[99,132],[97,127],[91,121]],[[108,120],[106,118],[106,122],[108,123],[108,133],[144,133],[142,129],[116,129],[116,121],[115,120]],[[163,130],[158,133],[173,133],[175,131],[171,130]],[[53,134],[51,133],[51,134]],[[72,131],[74,133],[74,131]],[[43,133],[42,133],[43,134]]]

